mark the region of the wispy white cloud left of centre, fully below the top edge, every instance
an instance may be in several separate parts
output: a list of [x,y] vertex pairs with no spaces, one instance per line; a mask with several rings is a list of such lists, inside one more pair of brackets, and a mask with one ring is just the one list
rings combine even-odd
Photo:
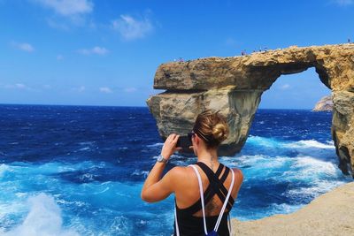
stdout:
[[135,40],[145,37],[153,30],[150,19],[134,19],[129,15],[120,15],[112,21],[113,29],[117,30],[125,40]]

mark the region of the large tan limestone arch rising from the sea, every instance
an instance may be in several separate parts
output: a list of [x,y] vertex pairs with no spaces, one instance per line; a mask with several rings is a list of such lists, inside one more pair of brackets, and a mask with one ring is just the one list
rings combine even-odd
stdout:
[[158,67],[154,88],[165,92],[147,103],[158,131],[188,133],[196,115],[205,109],[220,110],[231,133],[219,148],[220,155],[234,155],[244,145],[261,95],[281,74],[315,67],[319,80],[332,90],[332,136],[339,166],[354,169],[354,44],[275,49],[242,57],[207,57]]

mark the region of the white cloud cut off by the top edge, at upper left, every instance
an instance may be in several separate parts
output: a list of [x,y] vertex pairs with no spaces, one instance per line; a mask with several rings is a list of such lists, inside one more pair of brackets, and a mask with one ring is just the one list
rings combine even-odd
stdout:
[[62,16],[74,16],[89,13],[94,4],[89,0],[34,0],[42,6],[56,11]]

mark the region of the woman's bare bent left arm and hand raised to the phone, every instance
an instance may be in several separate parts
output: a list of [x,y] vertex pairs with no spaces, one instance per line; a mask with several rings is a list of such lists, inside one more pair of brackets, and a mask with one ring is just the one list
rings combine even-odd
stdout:
[[[169,159],[173,155],[173,152],[180,150],[176,148],[176,143],[180,135],[171,134],[167,137],[164,143],[164,147],[161,150],[161,155],[165,159]],[[178,168],[173,168],[168,171],[164,178],[161,179],[162,172],[165,169],[165,163],[156,163],[150,171],[148,178],[142,187],[142,200],[146,202],[158,202],[164,200],[167,196],[174,192],[173,189],[173,176],[178,172]]]

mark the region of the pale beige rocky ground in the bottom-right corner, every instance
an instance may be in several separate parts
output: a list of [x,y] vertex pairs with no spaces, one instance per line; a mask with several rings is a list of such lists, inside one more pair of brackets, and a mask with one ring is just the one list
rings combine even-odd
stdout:
[[232,235],[354,235],[354,182],[320,195],[288,215],[241,222],[232,219]]

